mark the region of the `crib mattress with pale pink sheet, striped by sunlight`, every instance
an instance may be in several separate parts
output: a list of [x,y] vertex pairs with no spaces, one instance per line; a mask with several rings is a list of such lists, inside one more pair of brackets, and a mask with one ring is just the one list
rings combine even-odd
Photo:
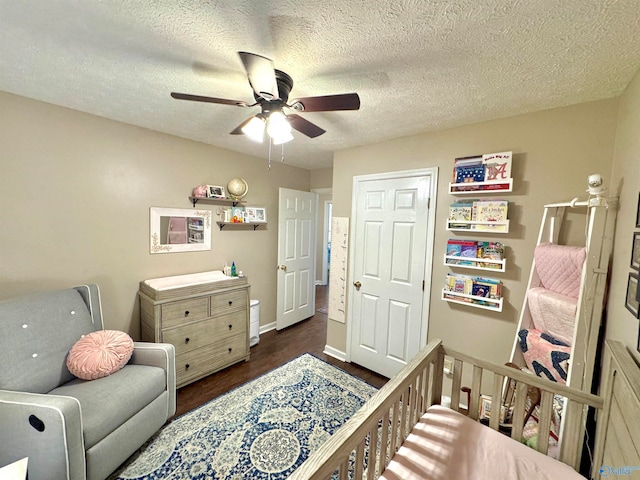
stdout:
[[584,480],[568,465],[437,405],[422,416],[380,478]]

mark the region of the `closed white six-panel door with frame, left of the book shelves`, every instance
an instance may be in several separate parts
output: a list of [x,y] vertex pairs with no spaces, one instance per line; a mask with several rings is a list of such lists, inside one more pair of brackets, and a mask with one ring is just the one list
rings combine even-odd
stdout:
[[433,169],[354,179],[348,356],[387,377],[426,343],[435,177]]

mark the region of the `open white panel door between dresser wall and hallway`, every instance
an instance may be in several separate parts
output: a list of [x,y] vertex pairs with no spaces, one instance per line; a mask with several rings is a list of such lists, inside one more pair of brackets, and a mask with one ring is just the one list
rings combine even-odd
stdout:
[[315,312],[317,203],[315,193],[280,189],[276,330]]

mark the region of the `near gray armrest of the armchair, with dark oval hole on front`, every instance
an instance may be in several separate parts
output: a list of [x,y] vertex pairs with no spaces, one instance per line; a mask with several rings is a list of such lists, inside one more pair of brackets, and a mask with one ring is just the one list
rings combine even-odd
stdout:
[[29,462],[29,477],[84,479],[80,403],[71,397],[0,390],[0,464]]

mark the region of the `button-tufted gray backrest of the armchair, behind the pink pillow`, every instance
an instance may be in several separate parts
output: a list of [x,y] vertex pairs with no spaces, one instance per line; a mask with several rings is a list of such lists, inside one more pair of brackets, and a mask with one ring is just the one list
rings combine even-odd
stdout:
[[73,288],[0,301],[0,389],[47,393],[72,380],[69,349],[98,323]]

